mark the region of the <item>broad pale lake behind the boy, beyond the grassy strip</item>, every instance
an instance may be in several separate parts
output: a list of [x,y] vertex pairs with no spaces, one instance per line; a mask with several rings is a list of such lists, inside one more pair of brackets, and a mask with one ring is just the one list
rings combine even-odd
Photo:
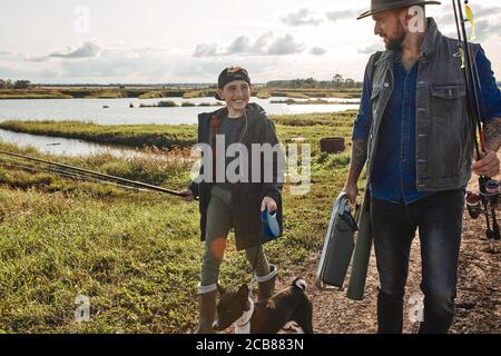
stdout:
[[[269,115],[337,112],[358,109],[360,99],[328,98],[332,102],[353,102],[353,105],[286,105],[271,103],[271,100],[291,98],[258,99],[252,102],[261,105]],[[158,101],[181,102],[217,102],[214,98],[161,98],[161,99],[16,99],[0,100],[0,120],[79,120],[100,125],[178,125],[197,123],[200,112],[214,111],[216,107],[175,107],[175,108],[139,108],[140,103],[154,105]],[[301,99],[294,99],[299,101]],[[132,103],[134,108],[129,108]],[[104,106],[109,108],[105,109]]]

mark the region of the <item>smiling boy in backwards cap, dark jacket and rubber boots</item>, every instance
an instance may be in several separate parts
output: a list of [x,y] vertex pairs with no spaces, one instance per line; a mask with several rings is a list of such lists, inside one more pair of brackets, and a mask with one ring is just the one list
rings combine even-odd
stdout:
[[[269,144],[277,147],[275,127],[267,118],[266,112],[256,103],[249,103],[252,95],[250,78],[247,71],[239,67],[230,67],[223,70],[218,78],[216,99],[224,100],[226,107],[210,113],[202,113],[198,117],[198,141],[210,145],[213,155],[204,155],[213,171],[226,172],[234,160],[225,155],[223,162],[214,159],[222,149],[233,144],[239,144],[246,148],[248,160],[246,167],[240,167],[247,179],[228,179],[227,175],[215,174],[216,179],[203,179],[200,182],[191,182],[185,191],[186,200],[199,197],[200,233],[205,239],[204,261],[202,267],[202,280],[198,285],[200,295],[200,314],[197,334],[214,333],[212,325],[216,314],[216,293],[219,276],[219,266],[223,261],[226,239],[229,229],[235,230],[237,250],[245,249],[256,280],[258,281],[258,300],[269,298],[275,287],[276,266],[269,265],[263,253],[262,244],[267,239],[263,236],[262,212],[276,212],[276,218],[282,234],[282,197],[281,190],[284,180],[284,158],[282,151],[275,150],[276,160],[272,164],[263,164],[263,151],[254,152],[253,145]],[[224,138],[224,147],[220,141]],[[263,147],[263,146],[262,146]],[[212,157],[207,157],[212,156]],[[237,159],[240,159],[242,154]],[[261,160],[258,160],[261,159]],[[214,162],[213,162],[214,160]],[[261,171],[259,179],[255,181],[252,175],[258,160]],[[240,164],[243,161],[240,160]],[[259,168],[257,167],[257,168]],[[273,177],[267,181],[266,171]],[[214,178],[214,177],[212,177]],[[212,180],[212,181],[206,181]],[[252,182],[250,182],[252,181]]]

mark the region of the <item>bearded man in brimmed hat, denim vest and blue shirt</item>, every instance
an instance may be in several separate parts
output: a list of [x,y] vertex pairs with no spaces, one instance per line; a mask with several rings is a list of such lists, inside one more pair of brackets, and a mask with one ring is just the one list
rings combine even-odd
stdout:
[[[490,62],[479,44],[471,44],[487,136],[487,152],[472,165],[473,140],[458,40],[444,37],[435,21],[424,17],[425,4],[439,3],[372,0],[371,10],[358,17],[372,16],[374,34],[383,38],[386,47],[371,57],[365,70],[344,187],[354,202],[356,182],[367,162],[381,284],[379,333],[402,333],[409,256],[418,228],[424,294],[420,333],[449,330],[464,188],[472,169],[488,177],[500,170],[495,152],[501,146],[501,93]],[[416,31],[419,21],[421,31]]]

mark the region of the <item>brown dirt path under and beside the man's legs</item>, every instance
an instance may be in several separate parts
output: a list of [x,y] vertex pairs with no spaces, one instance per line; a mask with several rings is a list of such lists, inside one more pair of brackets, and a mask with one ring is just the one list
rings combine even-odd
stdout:
[[[491,245],[484,239],[483,220],[465,216],[459,266],[456,315],[451,333],[501,333],[501,243]],[[308,295],[314,306],[315,333],[375,333],[377,271],[374,254],[367,276],[363,301],[346,298],[345,291],[318,291],[314,287],[320,253],[287,275],[303,276],[308,283]],[[288,279],[288,278],[284,278]],[[285,280],[284,280],[285,281]],[[411,251],[409,281],[404,305],[404,333],[415,333],[418,322],[411,322],[415,307],[412,296],[420,297],[421,256],[419,238]],[[287,280],[288,283],[288,280]],[[286,284],[281,284],[285,287]]]

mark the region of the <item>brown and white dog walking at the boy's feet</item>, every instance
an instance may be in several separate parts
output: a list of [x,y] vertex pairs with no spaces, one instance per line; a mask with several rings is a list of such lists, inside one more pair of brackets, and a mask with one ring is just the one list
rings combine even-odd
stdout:
[[249,298],[246,284],[236,293],[226,293],[219,285],[217,288],[220,298],[213,324],[216,332],[235,324],[235,334],[276,334],[295,322],[305,334],[313,334],[313,307],[306,295],[306,283],[301,278],[268,300],[257,303]]

